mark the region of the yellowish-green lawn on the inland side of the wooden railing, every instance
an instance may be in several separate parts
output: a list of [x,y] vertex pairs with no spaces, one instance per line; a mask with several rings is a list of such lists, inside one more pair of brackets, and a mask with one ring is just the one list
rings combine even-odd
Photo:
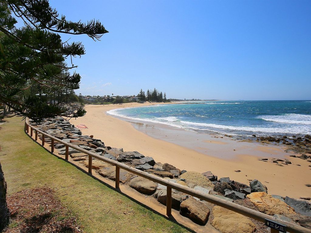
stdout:
[[8,195],[48,186],[85,232],[188,232],[47,152],[24,133],[20,117],[6,121],[0,130],[0,161]]

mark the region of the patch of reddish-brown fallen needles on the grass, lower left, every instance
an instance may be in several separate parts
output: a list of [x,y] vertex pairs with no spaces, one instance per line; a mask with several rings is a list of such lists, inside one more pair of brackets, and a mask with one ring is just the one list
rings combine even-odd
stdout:
[[47,187],[26,189],[7,198],[10,224],[4,233],[81,233],[83,230],[71,211],[63,207]]

